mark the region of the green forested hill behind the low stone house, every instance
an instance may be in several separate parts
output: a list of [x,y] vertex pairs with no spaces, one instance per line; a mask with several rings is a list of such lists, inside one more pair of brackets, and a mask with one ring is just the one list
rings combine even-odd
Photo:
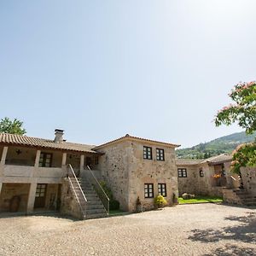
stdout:
[[200,143],[192,148],[177,149],[177,158],[203,159],[214,155],[230,154],[241,143],[253,142],[256,132],[253,135],[246,135],[244,131],[236,132],[228,136],[219,137],[209,143]]

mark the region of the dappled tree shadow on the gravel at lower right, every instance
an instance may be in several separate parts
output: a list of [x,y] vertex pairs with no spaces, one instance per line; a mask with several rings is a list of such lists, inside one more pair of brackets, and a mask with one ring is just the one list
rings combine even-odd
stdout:
[[[247,216],[230,216],[224,219],[235,221],[237,224],[223,229],[191,230],[193,235],[189,236],[189,240],[206,243],[231,240],[242,241],[252,245],[256,244],[256,213],[247,212]],[[239,247],[227,244],[225,247],[219,247],[211,254],[206,255],[256,255],[256,250],[253,247]]]

